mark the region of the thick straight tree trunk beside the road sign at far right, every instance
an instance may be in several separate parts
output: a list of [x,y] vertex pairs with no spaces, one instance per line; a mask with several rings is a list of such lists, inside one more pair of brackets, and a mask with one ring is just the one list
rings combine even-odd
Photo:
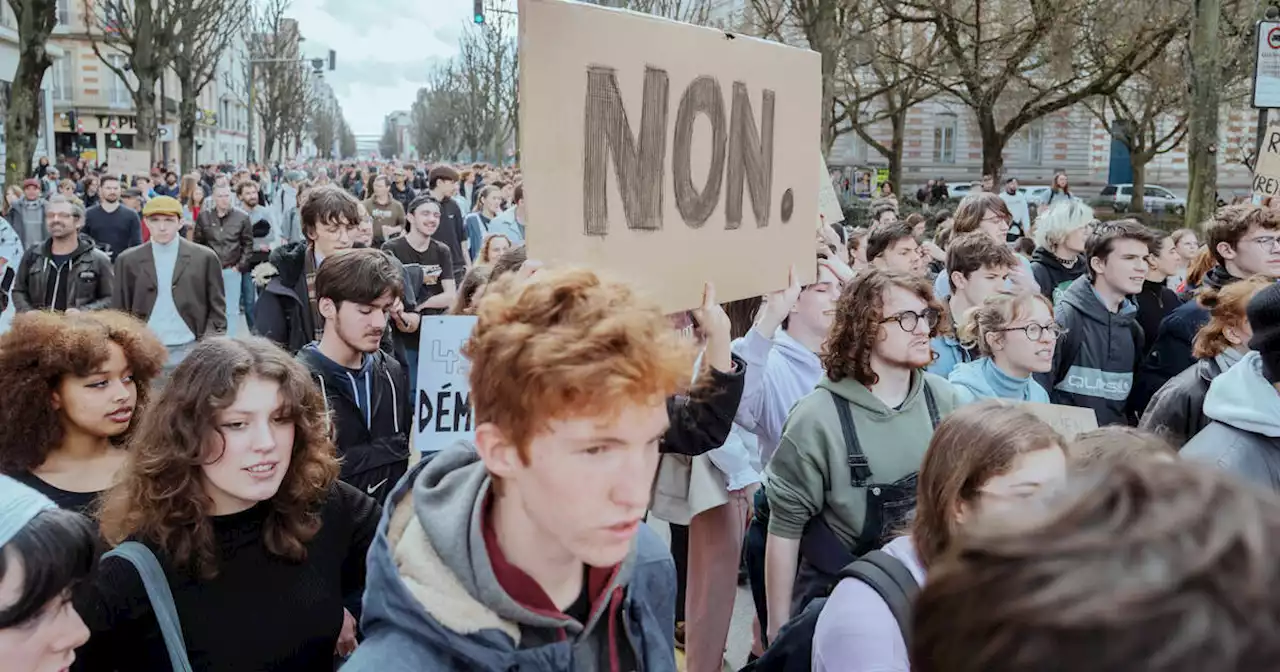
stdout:
[[1188,227],[1207,220],[1217,206],[1219,17],[1221,0],[1194,0],[1192,22],[1190,104],[1188,109],[1187,189]]

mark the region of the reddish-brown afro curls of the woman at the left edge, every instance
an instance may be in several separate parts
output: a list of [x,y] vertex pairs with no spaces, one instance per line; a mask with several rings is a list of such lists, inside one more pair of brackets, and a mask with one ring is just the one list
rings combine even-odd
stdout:
[[[129,362],[141,410],[169,352],[137,317],[115,311],[37,311],[13,320],[0,337],[0,389],[9,390],[0,404],[0,471],[31,471],[61,445],[65,430],[54,408],[54,392],[64,376],[92,374],[110,357],[111,343],[120,346]],[[134,420],[111,440],[124,443],[137,425]]]

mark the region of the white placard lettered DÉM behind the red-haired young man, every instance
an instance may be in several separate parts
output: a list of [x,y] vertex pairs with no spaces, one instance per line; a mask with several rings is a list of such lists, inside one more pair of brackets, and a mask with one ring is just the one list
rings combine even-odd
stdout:
[[413,397],[413,448],[421,454],[475,439],[471,362],[462,356],[475,325],[471,315],[422,316]]

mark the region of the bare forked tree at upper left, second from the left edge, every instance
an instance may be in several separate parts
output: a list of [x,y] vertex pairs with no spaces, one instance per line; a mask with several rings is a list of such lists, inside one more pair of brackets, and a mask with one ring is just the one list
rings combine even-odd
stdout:
[[156,84],[173,60],[182,13],[174,0],[84,0],[83,8],[93,54],[133,96],[138,119],[134,148],[154,152],[159,134]]

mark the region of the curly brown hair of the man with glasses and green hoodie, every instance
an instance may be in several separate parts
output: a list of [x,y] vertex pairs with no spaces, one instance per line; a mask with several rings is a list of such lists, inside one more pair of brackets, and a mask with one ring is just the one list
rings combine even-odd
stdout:
[[872,387],[879,376],[872,370],[872,349],[876,348],[884,319],[884,293],[891,287],[901,287],[920,297],[938,311],[938,325],[929,338],[951,332],[947,311],[933,298],[933,287],[924,278],[899,271],[873,270],[859,275],[845,285],[836,300],[836,320],[831,335],[822,344],[822,367],[832,383],[846,378]]

